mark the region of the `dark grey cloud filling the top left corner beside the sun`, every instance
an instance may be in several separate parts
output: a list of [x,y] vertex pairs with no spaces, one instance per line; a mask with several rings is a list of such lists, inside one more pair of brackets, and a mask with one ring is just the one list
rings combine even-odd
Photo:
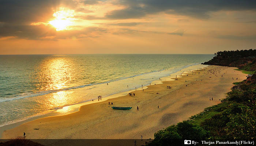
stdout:
[[0,22],[30,24],[52,18],[53,10],[60,5],[75,7],[72,0],[1,0]]

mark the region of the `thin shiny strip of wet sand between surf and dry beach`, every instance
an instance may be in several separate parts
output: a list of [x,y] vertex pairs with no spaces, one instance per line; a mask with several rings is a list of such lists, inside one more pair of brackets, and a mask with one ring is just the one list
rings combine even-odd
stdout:
[[[193,68],[193,66],[204,66],[207,67],[208,65],[201,65],[201,64],[192,64],[192,65],[185,65],[187,66],[186,68],[183,68],[181,70],[186,70],[188,68]],[[198,68],[197,68],[198,69]],[[165,71],[165,70],[169,70],[169,69],[162,69],[162,70],[159,70],[159,72],[161,71]],[[170,76],[174,77],[175,74],[177,74],[178,72],[181,72],[180,71],[177,71],[175,73],[171,73]],[[193,70],[194,71],[194,70]],[[190,73],[190,72],[185,72],[185,73]],[[182,73],[183,74],[183,73]],[[142,74],[140,74],[142,75]],[[140,75],[136,75],[136,76],[140,76]],[[184,74],[183,74],[184,75]],[[181,76],[177,75],[177,78],[180,78]],[[163,80],[162,80],[163,78]],[[169,76],[165,76],[165,77],[161,77],[161,80],[154,80],[151,82],[151,85],[154,85],[154,84],[162,84],[162,82],[166,79],[169,78]],[[173,81],[174,79],[167,79],[167,81]],[[147,89],[148,86],[150,85],[147,85],[145,87],[143,87],[143,89]],[[40,119],[40,118],[46,118],[46,117],[52,117],[52,116],[62,116],[62,115],[67,115],[67,114],[72,114],[74,112],[78,112],[79,111],[79,108],[83,105],[88,105],[88,104],[93,104],[93,103],[99,103],[99,102],[103,102],[103,101],[106,101],[108,99],[113,99],[113,98],[117,98],[117,97],[121,97],[121,96],[125,96],[127,95],[128,93],[130,92],[134,92],[134,91],[140,91],[142,90],[142,88],[137,88],[136,90],[133,89],[133,90],[129,90],[129,91],[125,91],[125,92],[120,92],[120,93],[115,93],[113,95],[110,95],[110,96],[107,96],[107,97],[103,97],[102,99],[103,100],[100,100],[100,101],[97,101],[97,99],[94,99],[95,102],[89,100],[89,101],[85,101],[83,103],[78,103],[78,104],[73,104],[73,105],[68,105],[68,106],[65,106],[65,107],[62,107],[60,109],[57,109],[56,111],[53,111],[53,112],[50,112],[50,113],[46,113],[46,114],[43,114],[43,115],[38,115],[38,116],[33,116],[32,118],[27,118],[25,120],[20,120],[18,122],[14,122],[14,123],[10,123],[10,124],[6,124],[4,126],[1,126],[0,127],[0,138],[1,138],[1,134],[3,133],[4,130],[8,130],[10,128],[14,128],[14,127],[17,127],[23,123],[27,123],[27,122],[30,122],[30,121],[33,121],[33,120],[36,120],[36,119]]]

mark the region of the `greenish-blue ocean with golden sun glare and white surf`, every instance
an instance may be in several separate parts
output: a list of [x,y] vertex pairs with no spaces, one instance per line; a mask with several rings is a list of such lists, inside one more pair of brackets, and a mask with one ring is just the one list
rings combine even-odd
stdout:
[[[0,55],[0,126],[149,85],[211,54]],[[108,84],[108,85],[107,85]]]

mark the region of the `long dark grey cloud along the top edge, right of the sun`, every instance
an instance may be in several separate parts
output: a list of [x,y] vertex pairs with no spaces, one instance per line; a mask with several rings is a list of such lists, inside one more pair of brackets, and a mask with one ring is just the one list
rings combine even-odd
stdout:
[[128,8],[115,10],[106,15],[109,19],[141,18],[147,14],[166,12],[207,19],[209,12],[220,10],[256,10],[255,0],[122,0]]

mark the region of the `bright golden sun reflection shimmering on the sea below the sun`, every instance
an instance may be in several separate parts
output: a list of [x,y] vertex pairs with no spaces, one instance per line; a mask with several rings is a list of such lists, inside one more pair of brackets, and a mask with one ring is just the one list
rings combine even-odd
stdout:
[[[38,79],[42,84],[39,90],[52,91],[57,90],[46,96],[44,106],[48,109],[56,109],[69,105],[72,99],[69,99],[69,94],[72,91],[65,91],[68,88],[68,83],[74,80],[74,73],[72,73],[72,61],[65,57],[53,57],[46,59],[40,66],[38,72]],[[61,90],[64,89],[64,90]],[[59,91],[60,90],[60,91]],[[62,112],[69,111],[68,108],[63,108]]]

